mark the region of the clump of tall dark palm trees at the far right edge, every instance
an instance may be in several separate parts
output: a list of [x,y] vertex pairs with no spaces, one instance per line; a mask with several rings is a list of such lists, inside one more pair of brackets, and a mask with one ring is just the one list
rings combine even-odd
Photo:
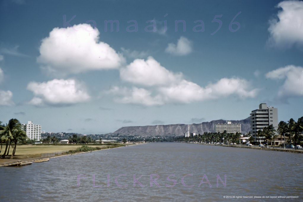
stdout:
[[289,119],[287,123],[285,121],[280,121],[278,124],[277,132],[280,134],[281,144],[283,135],[284,138],[285,136],[288,137],[288,144],[293,143],[297,145],[303,141],[303,116],[301,118],[298,118],[297,122],[293,118]]

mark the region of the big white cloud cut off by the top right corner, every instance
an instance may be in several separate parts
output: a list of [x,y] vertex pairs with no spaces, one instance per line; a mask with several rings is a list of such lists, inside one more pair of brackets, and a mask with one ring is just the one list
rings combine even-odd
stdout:
[[277,7],[282,10],[277,14],[278,19],[269,21],[269,44],[285,48],[303,45],[303,2],[283,1]]

